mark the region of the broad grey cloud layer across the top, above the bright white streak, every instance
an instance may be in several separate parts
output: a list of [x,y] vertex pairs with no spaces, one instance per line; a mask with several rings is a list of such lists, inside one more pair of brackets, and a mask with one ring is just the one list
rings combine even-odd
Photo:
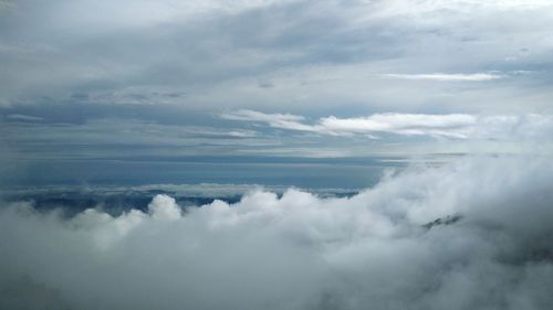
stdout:
[[[2,106],[88,93],[88,105],[170,103],[209,111],[394,105],[431,114],[445,100],[477,113],[481,100],[503,111],[550,108],[549,1],[7,3],[14,4],[0,15]],[[499,78],[534,70],[542,73]],[[392,82],[382,78],[386,73]],[[467,89],[413,78],[500,83]],[[128,89],[140,97],[126,96]],[[156,95],[164,90],[187,96]]]

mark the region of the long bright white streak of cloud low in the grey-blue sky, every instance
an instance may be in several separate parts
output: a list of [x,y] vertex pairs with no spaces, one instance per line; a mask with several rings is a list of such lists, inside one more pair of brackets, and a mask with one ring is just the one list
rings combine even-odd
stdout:
[[368,117],[320,118],[314,125],[302,122],[304,117],[290,114],[264,114],[239,110],[221,116],[226,119],[267,124],[273,128],[311,131],[322,135],[377,133],[431,136],[452,139],[547,139],[553,131],[551,115],[474,116],[468,114],[374,114]]

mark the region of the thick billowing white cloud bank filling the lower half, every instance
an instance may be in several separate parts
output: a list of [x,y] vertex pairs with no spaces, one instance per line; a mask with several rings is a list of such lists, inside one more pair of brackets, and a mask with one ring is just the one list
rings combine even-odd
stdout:
[[4,203],[0,309],[551,309],[552,236],[553,165],[538,157],[186,212],[168,195],[118,216]]

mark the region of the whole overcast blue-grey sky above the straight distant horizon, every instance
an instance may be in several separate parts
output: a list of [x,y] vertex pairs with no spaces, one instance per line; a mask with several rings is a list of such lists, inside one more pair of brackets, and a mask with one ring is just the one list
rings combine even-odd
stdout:
[[551,29],[545,0],[3,0],[2,157],[549,151]]

